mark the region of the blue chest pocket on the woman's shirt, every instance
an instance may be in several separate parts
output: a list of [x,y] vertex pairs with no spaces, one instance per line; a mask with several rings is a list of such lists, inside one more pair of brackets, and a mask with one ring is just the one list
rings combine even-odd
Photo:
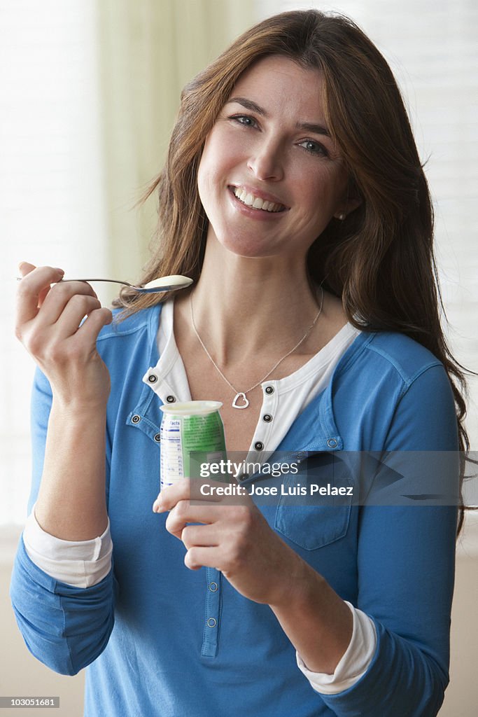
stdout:
[[322,454],[305,461],[300,473],[285,478],[282,491],[285,495],[279,498],[274,528],[289,541],[304,550],[317,550],[345,536],[353,480],[335,457]]

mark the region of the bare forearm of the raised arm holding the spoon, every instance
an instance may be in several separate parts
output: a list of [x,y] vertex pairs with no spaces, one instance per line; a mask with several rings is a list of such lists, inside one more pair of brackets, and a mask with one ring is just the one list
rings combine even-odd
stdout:
[[105,499],[106,408],[53,401],[35,515],[52,536],[70,541],[100,536]]

